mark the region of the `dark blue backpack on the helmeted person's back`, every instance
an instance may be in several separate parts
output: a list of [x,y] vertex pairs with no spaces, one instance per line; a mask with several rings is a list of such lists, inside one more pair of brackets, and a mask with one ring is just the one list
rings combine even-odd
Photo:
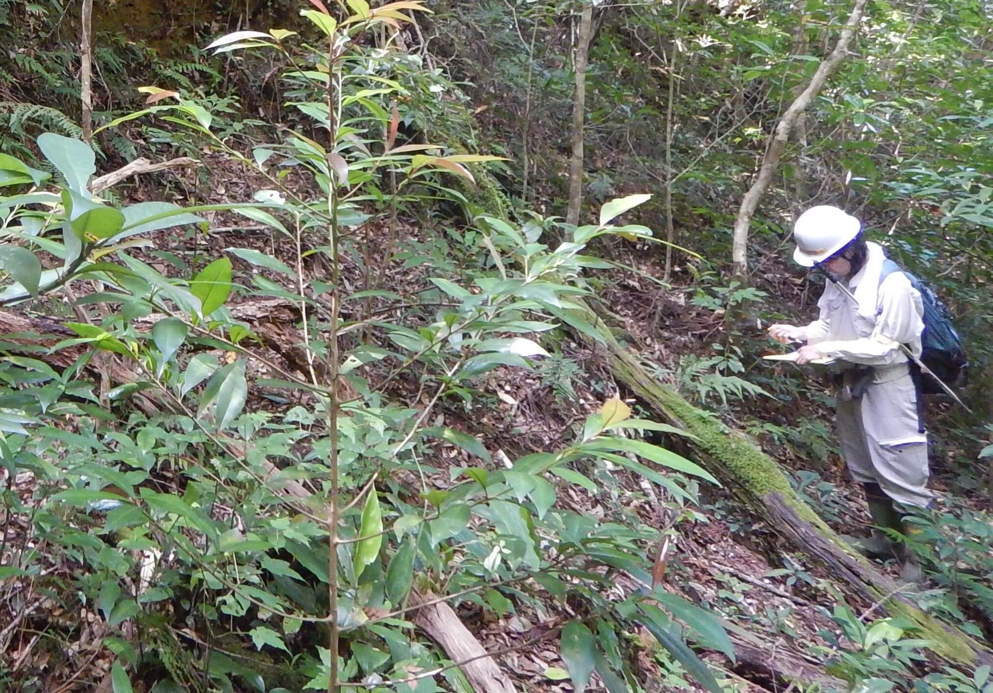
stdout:
[[[951,323],[951,313],[944,306],[934,291],[917,277],[901,269],[892,260],[883,263],[883,271],[879,275],[879,283],[894,272],[903,272],[911,281],[911,286],[921,292],[924,304],[924,331],[921,335],[921,362],[931,373],[941,379],[949,387],[960,386],[965,380],[965,369],[969,365],[962,348],[961,337]],[[918,369],[920,370],[920,369]],[[943,393],[941,386],[933,378],[922,374],[919,380],[922,391],[927,395]]]

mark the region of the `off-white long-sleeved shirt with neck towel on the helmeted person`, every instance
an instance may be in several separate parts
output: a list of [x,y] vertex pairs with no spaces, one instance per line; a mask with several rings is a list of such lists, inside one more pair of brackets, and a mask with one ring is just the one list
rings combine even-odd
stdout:
[[879,245],[868,246],[866,264],[848,282],[857,302],[829,282],[817,301],[820,313],[802,328],[801,338],[816,344],[827,358],[865,366],[903,363],[908,358],[901,344],[921,355],[921,293],[902,272],[892,273],[880,284],[886,255]]

